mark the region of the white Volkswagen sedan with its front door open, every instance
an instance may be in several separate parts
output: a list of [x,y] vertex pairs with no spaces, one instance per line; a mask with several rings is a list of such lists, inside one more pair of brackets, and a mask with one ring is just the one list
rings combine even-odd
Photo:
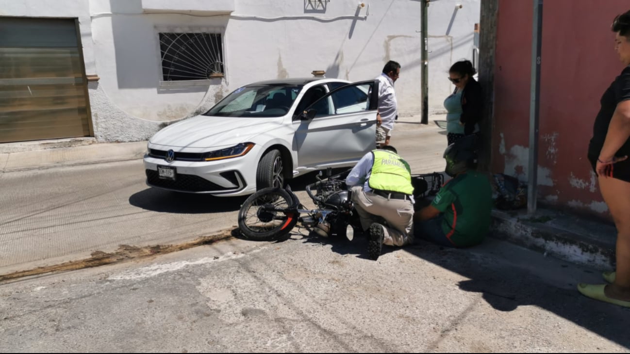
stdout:
[[147,185],[248,195],[309,171],[353,166],[375,148],[378,81],[261,81],[149,139]]

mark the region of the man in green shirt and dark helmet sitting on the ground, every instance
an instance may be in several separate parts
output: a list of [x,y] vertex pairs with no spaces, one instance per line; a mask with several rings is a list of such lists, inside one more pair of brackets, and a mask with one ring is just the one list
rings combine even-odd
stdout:
[[433,202],[414,214],[415,237],[442,246],[464,248],[480,244],[490,231],[492,187],[475,171],[476,138],[469,135],[447,147],[445,172],[453,177]]

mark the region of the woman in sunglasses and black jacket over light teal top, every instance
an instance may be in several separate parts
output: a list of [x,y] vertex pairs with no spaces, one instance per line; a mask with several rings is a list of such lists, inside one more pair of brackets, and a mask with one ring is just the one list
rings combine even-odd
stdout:
[[476,74],[470,60],[461,60],[449,69],[449,80],[455,91],[444,100],[447,109],[447,136],[449,145],[466,135],[478,134],[483,114],[481,85],[474,79]]

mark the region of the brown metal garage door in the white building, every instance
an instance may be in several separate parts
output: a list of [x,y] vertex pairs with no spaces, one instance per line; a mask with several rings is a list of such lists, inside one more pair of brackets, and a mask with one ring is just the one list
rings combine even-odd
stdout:
[[0,142],[91,135],[77,27],[0,17]]

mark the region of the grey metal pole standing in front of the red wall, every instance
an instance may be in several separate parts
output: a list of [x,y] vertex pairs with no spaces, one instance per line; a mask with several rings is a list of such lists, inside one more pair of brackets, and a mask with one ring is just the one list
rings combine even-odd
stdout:
[[529,103],[529,174],[527,214],[536,214],[538,188],[539,98],[541,93],[542,0],[534,0],[532,21],[532,77]]

